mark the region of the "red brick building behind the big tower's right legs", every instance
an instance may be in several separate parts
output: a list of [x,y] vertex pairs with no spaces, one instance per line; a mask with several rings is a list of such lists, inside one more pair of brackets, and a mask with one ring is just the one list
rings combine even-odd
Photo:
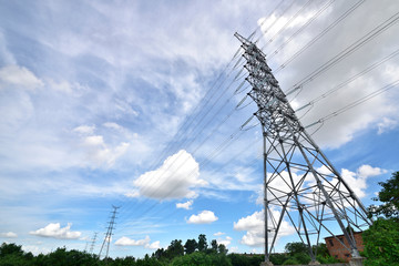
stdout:
[[[365,249],[361,234],[362,232],[354,233],[356,246],[359,252],[362,252]],[[342,242],[346,246],[349,246],[344,235],[337,235],[336,237],[334,236],[326,237],[325,241],[329,254],[335,258],[341,259],[344,262],[349,262],[349,259],[351,258],[350,250],[348,250],[345,246],[342,246],[342,244],[340,244],[337,238],[340,242]]]

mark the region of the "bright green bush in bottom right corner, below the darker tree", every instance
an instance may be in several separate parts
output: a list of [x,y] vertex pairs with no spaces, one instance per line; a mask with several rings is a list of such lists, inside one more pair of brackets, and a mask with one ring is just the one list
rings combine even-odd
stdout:
[[395,218],[377,219],[362,234],[367,266],[399,266],[399,223]]

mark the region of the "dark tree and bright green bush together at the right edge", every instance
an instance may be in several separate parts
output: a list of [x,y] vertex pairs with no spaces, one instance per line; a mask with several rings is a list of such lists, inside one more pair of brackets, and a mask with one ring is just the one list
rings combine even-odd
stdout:
[[370,217],[376,221],[364,233],[367,266],[399,266],[399,172],[380,182],[382,186],[375,201],[382,204],[369,207]]

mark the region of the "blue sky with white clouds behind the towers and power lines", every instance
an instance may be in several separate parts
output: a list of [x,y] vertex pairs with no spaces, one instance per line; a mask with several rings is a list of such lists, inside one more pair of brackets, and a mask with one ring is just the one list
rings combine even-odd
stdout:
[[[234,32],[256,29],[288,91],[399,11],[388,0],[276,6],[0,1],[0,241],[84,249],[96,232],[98,253],[115,205],[111,256],[200,234],[262,253],[262,135],[255,119],[239,130],[256,109],[235,109],[248,88],[235,93]],[[395,21],[304,84],[294,109],[321,98],[298,112],[303,124],[396,82],[398,57],[383,59],[398,31]],[[365,205],[399,170],[398,100],[392,86],[308,129]],[[287,232],[279,250],[296,239]]]

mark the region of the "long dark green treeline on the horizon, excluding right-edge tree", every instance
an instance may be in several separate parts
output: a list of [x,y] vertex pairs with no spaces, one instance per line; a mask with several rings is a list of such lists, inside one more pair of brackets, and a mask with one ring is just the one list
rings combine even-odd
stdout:
[[[325,244],[314,247],[317,252],[317,260],[320,263],[336,263],[330,257]],[[167,248],[158,248],[152,255],[144,258],[126,256],[124,258],[100,259],[98,255],[81,250],[68,250],[65,247],[58,248],[47,255],[23,252],[16,244],[3,243],[0,247],[0,266],[258,266],[264,260],[263,255],[256,254],[227,254],[227,248],[213,239],[207,244],[206,236],[200,235],[198,241],[187,239],[172,241]],[[274,265],[308,264],[310,257],[305,244],[288,243],[286,253],[272,254],[270,260]]]

